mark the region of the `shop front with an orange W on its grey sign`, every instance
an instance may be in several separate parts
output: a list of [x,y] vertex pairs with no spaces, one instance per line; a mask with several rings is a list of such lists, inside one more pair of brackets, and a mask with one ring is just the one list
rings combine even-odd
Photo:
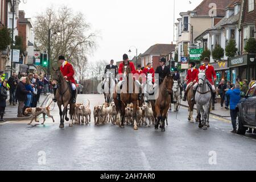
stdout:
[[218,61],[217,63],[212,63],[211,65],[214,67],[217,75],[216,85],[220,83],[222,78],[224,78],[225,81],[230,80],[228,61]]

